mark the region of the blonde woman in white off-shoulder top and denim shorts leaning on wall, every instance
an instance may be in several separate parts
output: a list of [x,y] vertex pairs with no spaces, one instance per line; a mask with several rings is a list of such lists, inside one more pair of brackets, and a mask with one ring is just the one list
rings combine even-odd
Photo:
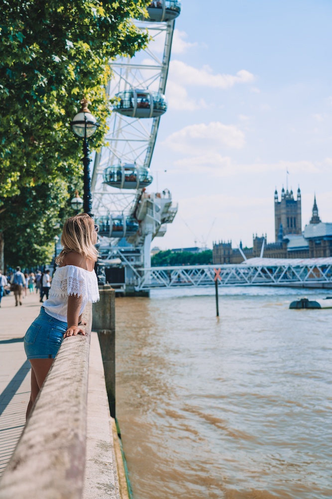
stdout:
[[[98,251],[98,226],[86,213],[69,218],[61,236],[63,250],[56,259],[49,298],[24,336],[24,349],[31,363],[29,416],[39,390],[60,348],[63,337],[85,335],[82,313],[85,305],[99,300],[94,271]],[[85,323],[84,323],[85,324]]]

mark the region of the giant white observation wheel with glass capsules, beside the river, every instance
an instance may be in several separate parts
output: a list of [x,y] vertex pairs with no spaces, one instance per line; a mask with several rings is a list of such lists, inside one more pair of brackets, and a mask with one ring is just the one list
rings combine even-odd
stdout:
[[149,45],[134,57],[111,63],[108,95],[113,112],[101,153],[96,154],[92,193],[100,235],[111,246],[122,238],[144,247],[144,266],[154,237],[166,232],[176,215],[168,189],[148,194],[152,183],[151,158],[161,116],[167,111],[165,88],[179,0],[155,0],[147,7],[148,18],[135,24],[148,29]]

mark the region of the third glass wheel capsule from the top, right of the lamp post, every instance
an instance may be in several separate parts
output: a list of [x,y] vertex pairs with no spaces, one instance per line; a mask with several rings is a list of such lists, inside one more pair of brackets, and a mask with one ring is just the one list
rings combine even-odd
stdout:
[[142,166],[118,164],[107,167],[103,179],[106,184],[118,189],[143,189],[152,183],[153,177]]

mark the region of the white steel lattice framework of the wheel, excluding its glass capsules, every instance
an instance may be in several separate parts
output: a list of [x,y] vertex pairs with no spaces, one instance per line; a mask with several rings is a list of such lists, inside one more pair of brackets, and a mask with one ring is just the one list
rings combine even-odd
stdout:
[[[134,57],[121,57],[111,63],[113,77],[109,83],[110,105],[114,96],[129,89],[146,89],[165,93],[171,54],[174,20],[169,22],[135,21],[148,29],[152,37],[145,50]],[[103,183],[103,172],[119,163],[136,164],[148,169],[157,137],[160,116],[131,118],[113,112],[108,123],[107,146],[96,154],[92,175],[93,211],[98,216],[108,213],[130,214],[134,211],[137,191],[112,188]]]

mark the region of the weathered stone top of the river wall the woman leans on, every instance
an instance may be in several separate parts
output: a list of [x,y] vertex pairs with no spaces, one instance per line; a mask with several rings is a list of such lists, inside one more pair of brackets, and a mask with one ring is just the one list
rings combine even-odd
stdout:
[[92,307],[86,336],[66,338],[0,480],[0,499],[80,499],[84,481]]

